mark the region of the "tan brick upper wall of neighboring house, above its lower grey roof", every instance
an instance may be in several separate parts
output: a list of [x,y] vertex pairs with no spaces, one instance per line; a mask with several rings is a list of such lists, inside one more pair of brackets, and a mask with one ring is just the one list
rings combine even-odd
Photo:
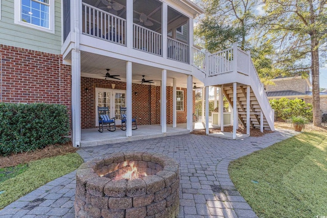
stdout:
[[267,85],[266,91],[283,91],[293,90],[305,93],[309,91],[306,79],[287,79],[287,80],[276,80],[273,81],[275,85]]

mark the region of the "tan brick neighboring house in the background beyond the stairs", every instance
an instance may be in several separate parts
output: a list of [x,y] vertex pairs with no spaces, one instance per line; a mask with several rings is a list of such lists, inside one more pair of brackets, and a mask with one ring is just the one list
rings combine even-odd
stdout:
[[[273,79],[274,85],[266,87],[268,99],[301,99],[312,104],[312,84],[310,80],[302,77],[287,77]],[[320,92],[321,114],[327,113],[327,93]]]

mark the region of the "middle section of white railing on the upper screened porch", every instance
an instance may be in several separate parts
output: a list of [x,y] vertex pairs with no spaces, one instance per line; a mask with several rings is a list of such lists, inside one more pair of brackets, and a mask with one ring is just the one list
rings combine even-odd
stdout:
[[161,34],[133,23],[133,47],[161,56]]

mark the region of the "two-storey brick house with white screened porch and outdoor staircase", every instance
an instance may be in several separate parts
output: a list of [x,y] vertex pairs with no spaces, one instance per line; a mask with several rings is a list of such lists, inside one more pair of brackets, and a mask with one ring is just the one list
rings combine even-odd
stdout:
[[274,130],[249,53],[236,44],[215,54],[193,46],[193,19],[204,11],[189,0],[0,0],[0,5],[0,101],[65,105],[75,147],[83,144],[81,129],[99,125],[98,106],[109,107],[118,122],[119,108],[127,107],[138,125],[160,124],[166,133],[167,125],[187,122],[192,131],[193,83],[222,90],[238,117],[234,139],[238,119]]

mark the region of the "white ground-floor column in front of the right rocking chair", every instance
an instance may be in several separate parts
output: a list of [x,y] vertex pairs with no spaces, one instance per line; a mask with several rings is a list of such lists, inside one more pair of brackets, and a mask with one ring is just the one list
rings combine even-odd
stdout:
[[126,136],[132,136],[132,62],[126,62]]

